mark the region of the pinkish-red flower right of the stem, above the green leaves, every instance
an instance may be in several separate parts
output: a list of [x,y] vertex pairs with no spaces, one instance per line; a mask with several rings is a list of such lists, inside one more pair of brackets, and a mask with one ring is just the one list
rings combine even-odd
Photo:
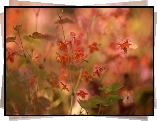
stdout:
[[97,75],[99,78],[102,76],[102,71],[105,70],[106,68],[103,66],[98,66],[95,65],[94,66],[94,72],[93,72],[93,76]]

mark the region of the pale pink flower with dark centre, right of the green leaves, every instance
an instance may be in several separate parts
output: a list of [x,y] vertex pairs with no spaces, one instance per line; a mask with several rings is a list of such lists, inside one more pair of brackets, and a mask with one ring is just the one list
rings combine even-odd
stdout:
[[134,96],[131,91],[125,91],[122,96],[124,105],[129,105],[134,102]]

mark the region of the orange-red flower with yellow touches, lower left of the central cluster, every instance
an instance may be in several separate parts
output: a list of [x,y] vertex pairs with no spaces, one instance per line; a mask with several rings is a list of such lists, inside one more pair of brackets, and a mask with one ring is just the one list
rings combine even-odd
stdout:
[[71,62],[71,58],[67,54],[64,54],[63,56],[61,56],[57,52],[56,52],[56,54],[58,55],[56,57],[56,60],[57,60],[57,62],[60,62],[62,64],[62,66],[65,66],[66,64]]

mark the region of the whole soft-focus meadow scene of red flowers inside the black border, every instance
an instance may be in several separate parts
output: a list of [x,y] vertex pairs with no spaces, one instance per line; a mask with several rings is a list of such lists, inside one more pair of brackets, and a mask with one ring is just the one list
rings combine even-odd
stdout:
[[153,115],[152,8],[7,8],[6,115]]

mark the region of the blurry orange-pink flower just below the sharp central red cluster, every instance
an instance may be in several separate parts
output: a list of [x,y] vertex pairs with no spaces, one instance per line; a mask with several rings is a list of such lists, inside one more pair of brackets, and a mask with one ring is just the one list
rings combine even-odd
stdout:
[[60,72],[61,73],[58,76],[58,80],[66,82],[67,79],[70,77],[70,73],[68,71],[65,71],[65,69],[63,69],[63,68],[61,69]]

